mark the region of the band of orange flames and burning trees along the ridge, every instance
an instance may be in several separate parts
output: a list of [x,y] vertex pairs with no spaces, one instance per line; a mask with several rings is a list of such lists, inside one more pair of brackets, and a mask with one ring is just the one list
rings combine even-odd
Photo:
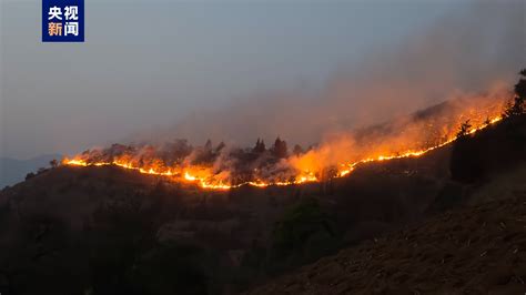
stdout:
[[464,95],[383,124],[332,134],[306,150],[296,144],[290,151],[280,138],[270,148],[257,139],[253,148],[246,149],[223,142],[214,145],[210,140],[202,146],[192,146],[186,140],[174,140],[156,146],[113,144],[88,150],[62,163],[117,165],[196,183],[203,189],[318,182],[347,175],[362,163],[419,156],[446,145],[516,112],[509,101],[518,96],[502,89],[484,95]]

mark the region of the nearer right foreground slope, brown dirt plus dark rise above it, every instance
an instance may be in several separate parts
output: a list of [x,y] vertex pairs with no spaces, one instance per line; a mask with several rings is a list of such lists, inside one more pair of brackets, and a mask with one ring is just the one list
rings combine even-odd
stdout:
[[438,215],[324,257],[250,294],[524,294],[525,152],[526,115],[457,141],[454,181],[429,207]]

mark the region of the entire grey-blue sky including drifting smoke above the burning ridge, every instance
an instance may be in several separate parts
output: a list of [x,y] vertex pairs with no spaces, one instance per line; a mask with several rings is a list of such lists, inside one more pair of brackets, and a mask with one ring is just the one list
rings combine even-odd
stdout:
[[40,2],[2,2],[0,155],[307,145],[508,88],[525,64],[520,0],[89,6],[85,43],[45,44]]

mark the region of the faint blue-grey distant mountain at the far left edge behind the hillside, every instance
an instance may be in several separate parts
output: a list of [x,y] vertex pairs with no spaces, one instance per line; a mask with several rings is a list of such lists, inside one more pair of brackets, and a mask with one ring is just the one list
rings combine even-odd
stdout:
[[29,172],[49,166],[49,161],[61,157],[59,154],[44,154],[29,160],[0,157],[0,189],[23,181]]

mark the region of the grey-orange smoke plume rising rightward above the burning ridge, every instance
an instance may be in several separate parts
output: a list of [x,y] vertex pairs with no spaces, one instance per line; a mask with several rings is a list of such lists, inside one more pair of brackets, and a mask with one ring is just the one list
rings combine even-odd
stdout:
[[526,65],[525,3],[472,4],[415,37],[370,52],[322,90],[282,90],[233,100],[134,140],[251,144],[256,138],[269,143],[281,136],[311,144],[453,96],[489,91],[497,84],[510,88]]

